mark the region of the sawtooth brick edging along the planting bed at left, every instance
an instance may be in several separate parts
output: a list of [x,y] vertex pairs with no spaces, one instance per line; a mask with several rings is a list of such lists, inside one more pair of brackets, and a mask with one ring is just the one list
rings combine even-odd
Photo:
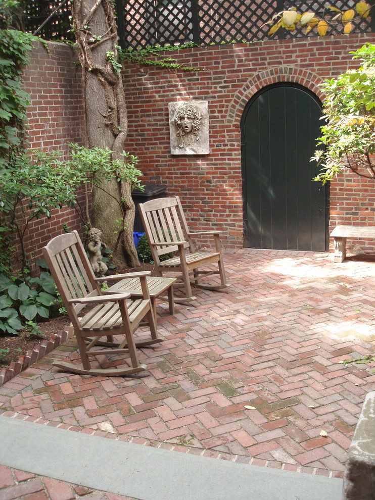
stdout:
[[0,370],[0,387],[26,370],[29,366],[39,361],[46,354],[51,353],[51,351],[59,347],[59,345],[64,343],[71,336],[73,336],[73,328],[66,327],[64,330],[59,330],[55,335],[51,335],[49,340],[43,340],[39,345],[27,351],[25,355],[21,355],[18,361],[11,361],[8,368],[2,368]]

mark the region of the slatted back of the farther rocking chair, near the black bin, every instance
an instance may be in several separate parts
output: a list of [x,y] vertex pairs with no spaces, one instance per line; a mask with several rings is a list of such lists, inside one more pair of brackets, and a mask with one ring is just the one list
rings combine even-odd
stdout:
[[139,204],[138,209],[148,238],[152,243],[160,243],[151,251],[154,249],[158,256],[177,252],[177,245],[165,246],[163,242],[186,241],[184,247],[194,252],[178,196],[153,199]]

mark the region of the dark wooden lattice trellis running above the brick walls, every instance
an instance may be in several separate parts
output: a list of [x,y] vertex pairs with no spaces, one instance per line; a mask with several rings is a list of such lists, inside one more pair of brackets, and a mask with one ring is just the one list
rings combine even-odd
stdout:
[[[61,0],[27,2],[25,25],[35,31]],[[45,39],[69,39],[71,0],[56,12],[38,33]],[[291,7],[311,10],[319,16],[330,14],[329,6],[346,10],[354,0],[116,0],[118,28],[122,47],[144,48],[192,41],[198,45],[252,42],[268,39],[266,22],[276,13]],[[353,32],[375,31],[375,16],[353,21]],[[331,27],[327,34],[342,32],[343,26]],[[301,29],[279,30],[275,38],[306,36]],[[308,36],[316,36],[312,31]]]

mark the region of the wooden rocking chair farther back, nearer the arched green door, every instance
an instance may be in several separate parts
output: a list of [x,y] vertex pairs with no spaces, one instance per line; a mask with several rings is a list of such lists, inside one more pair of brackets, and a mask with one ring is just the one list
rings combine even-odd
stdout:
[[[220,245],[222,231],[189,231],[178,196],[157,198],[138,205],[140,217],[150,244],[155,262],[157,276],[164,272],[179,272],[183,281],[184,297],[174,297],[174,302],[185,303],[196,299],[191,285],[209,290],[218,290],[229,286],[226,283],[224,265]],[[214,237],[215,252],[196,251],[192,237]],[[161,256],[175,252],[176,255],[167,260]],[[215,269],[212,270],[212,264]],[[210,265],[209,270],[199,270]],[[190,275],[193,274],[193,276]],[[202,283],[202,278],[213,274],[220,275],[220,284]]]

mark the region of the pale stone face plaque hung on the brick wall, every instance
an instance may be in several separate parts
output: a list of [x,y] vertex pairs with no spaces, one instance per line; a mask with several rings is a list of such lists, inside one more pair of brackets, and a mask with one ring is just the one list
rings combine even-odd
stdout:
[[207,101],[169,103],[169,131],[172,155],[208,155]]

